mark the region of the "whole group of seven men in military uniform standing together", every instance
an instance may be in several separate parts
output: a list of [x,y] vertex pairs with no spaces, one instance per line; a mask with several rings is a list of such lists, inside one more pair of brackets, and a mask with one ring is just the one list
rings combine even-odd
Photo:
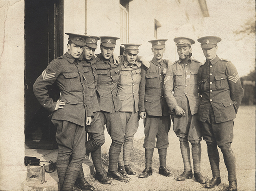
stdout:
[[[139,178],[152,175],[154,148],[158,148],[159,174],[172,176],[166,168],[172,119],[184,162],[184,172],[176,180],[184,181],[194,175],[197,182],[206,183],[200,173],[203,137],[213,173],[206,188],[221,183],[219,146],[228,170],[228,191],[237,190],[231,143],[233,119],[243,89],[234,65],[216,55],[219,37],[198,39],[206,57],[202,65],[191,58],[195,41],[185,37],[174,39],[179,59],[171,63],[163,59],[167,39],[149,41],[154,56],[148,62],[138,56],[139,44],[122,44],[124,54],[117,56],[113,52],[118,37],[66,34],[68,51],[51,61],[33,85],[40,104],[53,113],[52,122],[57,128],[60,190],[70,191],[74,186],[83,191],[94,190],[82,169],[85,154],[89,153],[95,179],[100,183],[111,184],[112,179],[129,181],[127,174],[136,174],[130,166],[130,154],[140,118],[145,127],[145,169]],[[101,53],[94,54],[98,40]],[[54,82],[61,92],[57,102],[48,95],[48,85]],[[101,159],[105,125],[112,139],[107,174]],[[86,142],[85,132],[90,135]]]

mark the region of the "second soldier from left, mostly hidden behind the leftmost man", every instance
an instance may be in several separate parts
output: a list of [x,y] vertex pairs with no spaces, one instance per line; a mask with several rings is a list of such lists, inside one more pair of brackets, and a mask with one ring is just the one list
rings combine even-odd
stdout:
[[97,71],[95,63],[98,60],[97,56],[94,56],[95,49],[97,48],[97,42],[100,37],[90,36],[86,38],[86,45],[83,50],[83,71],[87,79],[87,85],[90,92],[90,100],[93,105],[94,118],[91,125],[86,125],[85,130],[90,135],[90,139],[86,141],[86,154],[91,153],[93,165],[95,167],[95,179],[102,184],[111,184],[111,180],[104,174],[101,160],[101,146],[105,143],[104,127],[100,121],[100,106],[98,104],[98,91],[97,86]]

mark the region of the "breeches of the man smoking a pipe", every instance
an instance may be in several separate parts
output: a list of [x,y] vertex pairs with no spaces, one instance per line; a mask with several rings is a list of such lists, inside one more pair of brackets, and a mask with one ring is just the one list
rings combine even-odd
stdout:
[[177,137],[186,138],[191,143],[202,140],[201,128],[197,121],[197,114],[191,115],[189,107],[185,116],[172,115],[173,130]]

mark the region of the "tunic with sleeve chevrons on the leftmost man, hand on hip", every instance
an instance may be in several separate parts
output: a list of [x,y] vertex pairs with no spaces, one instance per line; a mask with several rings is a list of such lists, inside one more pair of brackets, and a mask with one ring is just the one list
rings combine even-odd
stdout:
[[[56,111],[56,102],[49,97],[46,87],[55,81],[61,92],[59,99],[66,102],[64,108]],[[86,116],[93,116],[87,88],[81,62],[75,61],[67,52],[52,60],[33,85],[39,103],[53,112],[52,119],[70,121],[80,126],[85,126]]]

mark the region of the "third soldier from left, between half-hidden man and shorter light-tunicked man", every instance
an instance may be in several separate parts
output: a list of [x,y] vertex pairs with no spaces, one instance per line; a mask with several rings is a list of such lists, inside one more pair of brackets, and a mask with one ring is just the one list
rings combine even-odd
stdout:
[[119,72],[121,65],[113,62],[113,52],[118,37],[100,37],[100,50],[98,60],[95,63],[98,74],[97,91],[99,93],[100,121],[102,127],[106,124],[108,133],[112,139],[109,148],[109,168],[107,176],[119,181],[127,182],[130,177],[123,176],[117,171],[117,161],[124,143],[123,127],[119,111],[121,102],[117,95],[117,83],[119,82]]

